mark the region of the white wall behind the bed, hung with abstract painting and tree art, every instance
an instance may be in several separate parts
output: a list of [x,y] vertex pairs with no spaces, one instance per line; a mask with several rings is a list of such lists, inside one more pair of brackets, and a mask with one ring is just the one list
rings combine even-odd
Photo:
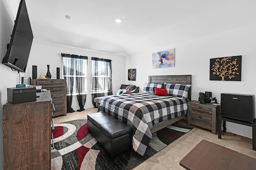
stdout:
[[[227,14],[230,12],[232,10],[226,11]],[[243,13],[244,11],[240,10],[239,12]],[[206,17],[207,14],[206,12]],[[254,14],[255,17],[256,15]],[[196,18],[194,19],[194,24],[200,22]],[[200,30],[204,31],[204,27],[198,27],[198,29],[198,32]],[[126,58],[126,74],[128,69],[136,69],[136,81],[126,82],[132,82],[143,89],[144,84],[148,82],[149,75],[192,75],[192,100],[198,100],[198,93],[205,91],[212,91],[212,95],[217,98],[218,103],[220,103],[220,93],[256,95],[254,88],[256,83],[255,30],[256,24],[251,21],[250,24],[239,25],[237,23],[237,27],[234,29],[199,37],[194,40],[166,44],[164,46],[155,45],[154,48],[148,45],[149,47],[144,52]],[[181,33],[178,32],[178,34]],[[158,37],[164,39],[165,35],[159,33]],[[175,48],[175,67],[152,69],[152,53],[172,48]],[[209,80],[211,58],[236,55],[242,55],[242,81]],[[226,127],[233,133],[252,138],[252,127],[229,122],[226,123]]]

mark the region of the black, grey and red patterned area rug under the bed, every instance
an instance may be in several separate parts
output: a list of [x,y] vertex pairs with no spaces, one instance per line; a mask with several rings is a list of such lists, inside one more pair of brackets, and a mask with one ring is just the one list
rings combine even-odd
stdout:
[[87,130],[87,120],[79,119],[55,125],[52,169],[54,170],[130,170],[180,136],[190,131],[186,125],[174,123],[153,133],[144,156],[133,149],[114,158],[93,138]]

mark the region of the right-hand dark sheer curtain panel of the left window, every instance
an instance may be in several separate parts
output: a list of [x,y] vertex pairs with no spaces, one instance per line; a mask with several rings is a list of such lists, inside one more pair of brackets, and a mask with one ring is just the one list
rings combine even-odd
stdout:
[[[85,61],[86,60],[86,61]],[[80,109],[76,110],[78,112],[84,111],[84,104],[86,101],[86,94],[85,91],[83,91],[84,86],[86,85],[86,82],[84,81],[84,71],[85,64],[87,68],[87,57],[77,58],[76,59],[76,97],[78,100],[78,105]]]

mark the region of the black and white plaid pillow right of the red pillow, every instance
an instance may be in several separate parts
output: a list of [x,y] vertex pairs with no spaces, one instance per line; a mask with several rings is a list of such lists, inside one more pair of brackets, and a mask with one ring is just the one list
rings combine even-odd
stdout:
[[190,87],[191,85],[164,83],[168,96],[182,97],[183,99],[188,97],[188,89]]

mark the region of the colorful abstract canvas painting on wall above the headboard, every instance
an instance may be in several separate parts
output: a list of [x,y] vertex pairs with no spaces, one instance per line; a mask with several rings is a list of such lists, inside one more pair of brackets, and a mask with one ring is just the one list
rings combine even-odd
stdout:
[[152,53],[153,69],[174,67],[174,66],[175,66],[174,65],[174,48]]

